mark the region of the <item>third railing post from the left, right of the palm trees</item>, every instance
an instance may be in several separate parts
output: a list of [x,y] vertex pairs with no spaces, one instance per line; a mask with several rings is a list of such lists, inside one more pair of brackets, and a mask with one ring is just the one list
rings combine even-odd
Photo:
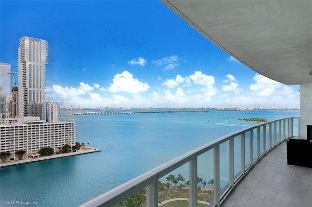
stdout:
[[214,205],[220,206],[220,145],[214,147]]

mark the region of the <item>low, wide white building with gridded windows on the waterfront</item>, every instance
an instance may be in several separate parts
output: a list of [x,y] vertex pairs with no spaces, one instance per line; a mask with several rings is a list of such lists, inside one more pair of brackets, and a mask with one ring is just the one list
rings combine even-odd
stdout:
[[[25,150],[28,155],[38,153],[43,147],[52,147],[54,152],[68,144],[75,146],[75,121],[45,122],[40,117],[5,119],[9,124],[0,125],[0,152],[10,152],[8,160],[17,160],[16,151]],[[3,120],[2,120],[3,121]],[[17,123],[21,122],[21,123]]]

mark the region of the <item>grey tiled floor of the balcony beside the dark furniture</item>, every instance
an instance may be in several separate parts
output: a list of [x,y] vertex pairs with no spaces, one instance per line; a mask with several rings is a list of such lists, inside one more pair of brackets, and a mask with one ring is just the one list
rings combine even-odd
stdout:
[[287,165],[284,141],[259,160],[222,207],[312,207],[312,168]]

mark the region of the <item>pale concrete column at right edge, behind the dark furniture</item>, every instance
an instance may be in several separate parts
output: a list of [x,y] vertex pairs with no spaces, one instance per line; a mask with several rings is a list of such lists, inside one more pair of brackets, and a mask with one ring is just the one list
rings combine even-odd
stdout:
[[300,85],[300,138],[307,138],[307,125],[312,125],[312,82]]

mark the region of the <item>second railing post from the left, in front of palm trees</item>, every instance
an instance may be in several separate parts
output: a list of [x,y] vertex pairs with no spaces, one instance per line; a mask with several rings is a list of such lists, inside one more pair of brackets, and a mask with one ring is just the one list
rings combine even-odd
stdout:
[[197,207],[197,157],[190,160],[190,207]]

